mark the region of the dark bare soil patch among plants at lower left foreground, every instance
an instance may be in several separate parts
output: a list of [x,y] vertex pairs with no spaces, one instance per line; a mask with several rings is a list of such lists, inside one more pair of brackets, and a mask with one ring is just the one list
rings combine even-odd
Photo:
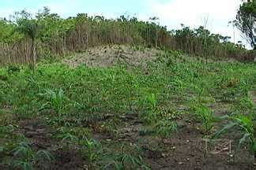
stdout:
[[[54,157],[50,169],[77,170],[83,169],[83,158],[76,150],[65,150],[57,139],[52,138],[55,130],[43,124],[40,120],[22,120],[19,122],[19,133],[24,134],[32,142],[35,150],[48,150]],[[38,168],[40,169],[40,168]]]

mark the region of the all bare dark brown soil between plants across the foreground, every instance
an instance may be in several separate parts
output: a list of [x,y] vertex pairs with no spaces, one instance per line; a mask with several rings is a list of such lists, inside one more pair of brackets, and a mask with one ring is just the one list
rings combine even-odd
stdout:
[[[220,108],[223,108],[221,109]],[[218,116],[226,113],[228,104],[216,104],[212,106]],[[111,119],[111,116],[109,117]],[[140,146],[146,164],[152,169],[254,169],[253,157],[250,157],[247,150],[235,150],[235,142],[238,135],[233,132],[225,139],[231,140],[231,148],[224,145],[226,140],[205,149],[205,140],[201,131],[198,130],[200,124],[178,121],[179,131],[172,134],[168,139],[162,139],[154,135],[142,135],[141,130],[145,129],[141,122],[134,119],[124,119],[124,126],[119,129],[120,135],[116,139],[107,133],[94,132],[92,137],[115,150],[124,142],[130,145]],[[51,169],[86,169],[86,161],[76,150],[64,150],[58,145],[58,140],[51,136],[54,129],[40,123],[40,120],[25,120],[20,123],[21,133],[32,140],[33,146],[37,149],[50,150],[55,156],[55,161],[51,163]],[[220,128],[221,123],[216,125]],[[229,150],[231,149],[231,150]],[[217,153],[212,153],[217,150]]]

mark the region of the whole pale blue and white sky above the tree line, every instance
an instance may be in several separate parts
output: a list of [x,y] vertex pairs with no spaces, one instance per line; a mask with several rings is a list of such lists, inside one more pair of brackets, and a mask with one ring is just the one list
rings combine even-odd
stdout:
[[239,31],[228,21],[235,19],[241,0],[0,0],[0,17],[9,17],[15,11],[28,9],[36,13],[43,6],[62,17],[76,16],[77,13],[101,14],[105,17],[119,17],[126,13],[141,20],[159,17],[160,24],[168,29],[180,28],[185,24],[191,28],[204,25],[214,33],[232,37],[232,42],[241,40]]

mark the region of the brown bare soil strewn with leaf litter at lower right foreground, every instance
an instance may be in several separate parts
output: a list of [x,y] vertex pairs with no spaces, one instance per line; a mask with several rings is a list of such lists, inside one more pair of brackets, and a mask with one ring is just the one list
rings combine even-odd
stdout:
[[[226,109],[220,109],[221,104],[213,105],[216,115],[222,116]],[[181,120],[182,121],[182,120]],[[195,124],[186,124],[178,127],[178,132],[168,139],[161,139],[154,135],[141,135],[140,131],[145,127],[135,120],[126,120],[126,126],[119,128],[119,139],[111,139],[112,150],[118,150],[124,142],[136,144],[141,148],[141,156],[146,164],[152,169],[254,169],[253,159],[251,160],[247,149],[236,150],[238,134],[235,132],[220,139],[220,146],[211,144],[206,150],[206,142],[201,131]],[[104,134],[94,135],[100,142],[109,140]],[[221,145],[224,142],[231,142],[231,148]],[[111,146],[110,146],[111,147]],[[216,147],[218,151],[213,153]],[[230,149],[230,150],[229,150]]]

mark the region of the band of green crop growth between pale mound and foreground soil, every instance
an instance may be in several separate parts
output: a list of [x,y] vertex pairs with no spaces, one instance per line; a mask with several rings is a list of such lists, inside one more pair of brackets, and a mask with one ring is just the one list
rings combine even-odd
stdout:
[[[176,128],[179,130],[180,120],[188,119],[201,108],[211,112],[210,105],[215,102],[229,102],[229,112],[250,109],[247,93],[255,83],[256,65],[228,62],[205,64],[203,60],[171,51],[150,62],[147,68],[129,70],[126,65],[69,68],[59,63],[41,63],[36,72],[26,67],[18,71],[11,67],[1,68],[0,124],[6,126],[0,127],[0,136],[3,137],[0,138],[0,146],[6,145],[11,150],[15,145],[10,143],[24,140],[17,135],[19,126],[15,125],[19,125],[20,120],[29,119],[43,121],[48,127],[58,129],[52,137],[58,141],[67,134],[81,140],[81,136],[93,138],[93,134],[98,133],[107,134],[110,139],[119,139],[120,129],[125,127],[124,124],[129,126],[129,117],[143,123],[140,131],[144,135],[149,133],[155,136],[153,138],[168,138]],[[58,110],[54,105],[47,104],[51,102],[47,89],[57,94],[60,90],[64,92],[60,116],[57,116]],[[198,116],[193,117],[202,121]],[[210,135],[214,127],[207,131],[204,122],[201,123],[200,131]],[[61,130],[59,127],[62,127]],[[60,142],[59,145],[66,144]],[[113,151],[107,147],[107,144],[101,146],[109,153],[124,153],[123,150]],[[133,150],[136,148],[130,147]],[[128,153],[138,155],[135,151]],[[100,159],[96,159],[95,164]],[[88,157],[85,160],[88,163]]]

